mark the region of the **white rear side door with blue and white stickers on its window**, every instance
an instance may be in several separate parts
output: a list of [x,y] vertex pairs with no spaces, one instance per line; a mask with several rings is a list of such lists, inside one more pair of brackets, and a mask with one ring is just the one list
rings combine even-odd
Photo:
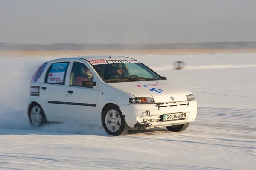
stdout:
[[68,118],[65,105],[65,78],[69,63],[52,63],[41,86],[40,95],[44,98],[44,112],[50,121],[61,121],[60,118]]

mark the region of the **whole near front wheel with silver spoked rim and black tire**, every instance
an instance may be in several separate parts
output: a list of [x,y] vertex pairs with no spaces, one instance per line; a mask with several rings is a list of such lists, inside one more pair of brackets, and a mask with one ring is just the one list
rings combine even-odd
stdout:
[[121,110],[116,106],[110,106],[102,114],[102,123],[109,135],[125,135],[130,127],[125,122]]

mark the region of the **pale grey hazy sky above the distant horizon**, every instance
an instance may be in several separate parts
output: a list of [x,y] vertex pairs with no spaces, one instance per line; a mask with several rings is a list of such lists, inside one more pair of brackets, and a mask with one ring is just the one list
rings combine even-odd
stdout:
[[256,41],[256,0],[0,0],[0,43]]

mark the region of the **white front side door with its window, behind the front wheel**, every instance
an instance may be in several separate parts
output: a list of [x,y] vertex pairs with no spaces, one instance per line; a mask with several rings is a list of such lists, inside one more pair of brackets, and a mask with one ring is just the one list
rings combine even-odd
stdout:
[[[70,72],[70,81],[66,89],[66,107],[69,118],[82,120],[82,121],[94,121],[98,120],[98,87],[96,86],[84,87],[82,81],[99,82],[99,78],[92,74],[89,76],[86,74],[88,70],[86,61],[75,61]],[[86,69],[86,71],[85,71]]]

